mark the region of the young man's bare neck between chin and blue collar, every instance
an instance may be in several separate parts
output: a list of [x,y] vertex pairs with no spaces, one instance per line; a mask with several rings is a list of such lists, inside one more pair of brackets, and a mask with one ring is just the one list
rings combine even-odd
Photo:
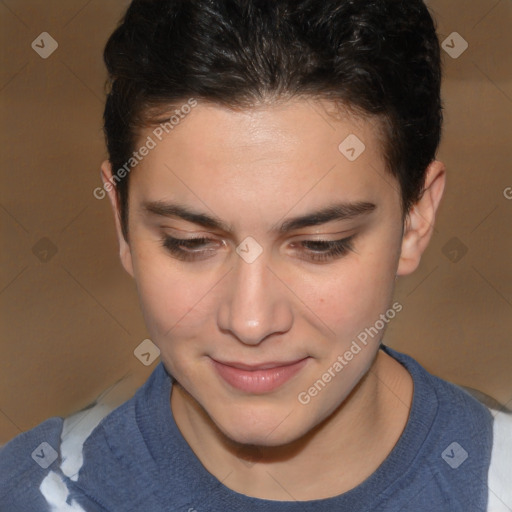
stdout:
[[346,400],[313,430],[284,446],[233,443],[179,384],[173,386],[171,407],[191,449],[224,485],[256,498],[304,501],[342,494],[366,480],[402,434],[412,394],[410,374],[379,350]]

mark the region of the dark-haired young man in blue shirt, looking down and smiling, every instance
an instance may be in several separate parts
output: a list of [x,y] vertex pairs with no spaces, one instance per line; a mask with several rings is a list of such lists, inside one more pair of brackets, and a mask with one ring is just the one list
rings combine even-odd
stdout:
[[425,5],[135,0],[105,60],[95,194],[162,363],[9,443],[1,510],[509,510],[508,416],[382,343],[445,182]]

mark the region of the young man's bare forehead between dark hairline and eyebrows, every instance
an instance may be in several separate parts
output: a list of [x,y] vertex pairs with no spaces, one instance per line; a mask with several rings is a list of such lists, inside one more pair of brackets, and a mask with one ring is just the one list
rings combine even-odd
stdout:
[[199,102],[172,129],[167,125],[168,133],[161,127],[141,133],[138,144],[150,138],[154,147],[130,177],[131,195],[226,209],[227,201],[243,200],[283,213],[298,202],[316,207],[397,196],[383,190],[377,124],[334,112],[332,103],[313,100],[241,111]]

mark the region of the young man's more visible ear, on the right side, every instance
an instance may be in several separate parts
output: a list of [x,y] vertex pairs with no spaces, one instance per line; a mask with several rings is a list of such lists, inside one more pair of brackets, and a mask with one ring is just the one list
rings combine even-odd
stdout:
[[405,220],[397,276],[414,272],[420,264],[421,255],[434,231],[436,211],[446,182],[445,171],[444,164],[438,160],[427,168],[423,195],[409,210]]

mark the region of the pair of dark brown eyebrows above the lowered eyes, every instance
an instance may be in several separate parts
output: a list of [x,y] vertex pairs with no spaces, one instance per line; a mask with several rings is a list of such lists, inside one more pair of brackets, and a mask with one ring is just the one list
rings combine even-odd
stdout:
[[[272,227],[271,231],[279,234],[286,234],[297,229],[319,226],[327,222],[349,220],[373,212],[377,206],[366,201],[352,203],[340,202],[329,205],[305,215],[292,217],[280,225]],[[142,210],[145,214],[161,217],[178,217],[193,224],[205,228],[217,229],[230,233],[232,227],[223,222],[215,215],[194,211],[187,206],[166,201],[145,201],[142,203]]]

